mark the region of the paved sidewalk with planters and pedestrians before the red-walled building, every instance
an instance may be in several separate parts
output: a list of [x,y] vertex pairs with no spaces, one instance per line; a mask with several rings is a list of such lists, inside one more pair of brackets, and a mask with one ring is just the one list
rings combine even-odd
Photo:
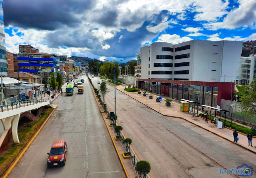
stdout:
[[[255,138],[252,139],[253,147],[251,147],[251,146],[248,146],[247,137],[238,133],[239,140],[237,141],[237,143],[235,143],[235,142],[233,142],[233,130],[230,130],[227,128],[219,129],[219,128],[217,128],[217,125],[214,126],[214,124],[210,123],[210,121],[208,121],[208,123],[206,123],[205,120],[201,117],[193,117],[191,114],[188,114],[188,112],[180,111],[179,101],[172,99],[173,101],[171,102],[171,106],[166,107],[164,100],[171,99],[169,97],[152,94],[153,99],[148,99],[148,97],[147,98],[144,97],[142,95],[142,93],[137,94],[137,92],[127,92],[127,91],[123,90],[122,86],[116,86],[116,89],[164,116],[184,119],[202,129],[205,129],[205,130],[207,130],[225,140],[228,140],[229,142],[232,142],[233,144],[237,144],[238,146],[256,154],[256,148],[254,148],[254,146],[256,146]],[[150,94],[150,92],[148,92],[148,91],[147,91],[147,93]],[[147,95],[147,96],[149,96],[149,95]],[[161,103],[155,101],[156,97],[159,97],[159,96],[162,97]],[[198,112],[198,114],[199,113],[201,113],[201,112]],[[242,125],[240,123],[236,123],[236,124]]]

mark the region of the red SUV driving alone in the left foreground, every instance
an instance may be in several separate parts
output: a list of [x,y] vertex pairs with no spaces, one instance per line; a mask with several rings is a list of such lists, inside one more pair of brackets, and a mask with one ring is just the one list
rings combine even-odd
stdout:
[[50,153],[47,153],[48,167],[65,165],[66,155],[67,155],[67,145],[63,140],[55,141],[50,149]]

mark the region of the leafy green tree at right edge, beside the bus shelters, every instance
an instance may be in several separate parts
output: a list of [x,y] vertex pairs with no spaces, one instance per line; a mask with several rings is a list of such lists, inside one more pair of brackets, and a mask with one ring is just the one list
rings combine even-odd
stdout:
[[256,76],[245,87],[245,94],[241,97],[242,113],[247,117],[256,115]]

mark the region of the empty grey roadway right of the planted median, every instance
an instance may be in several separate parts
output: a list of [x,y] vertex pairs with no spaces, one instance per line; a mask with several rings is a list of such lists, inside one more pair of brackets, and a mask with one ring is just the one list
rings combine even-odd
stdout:
[[[96,87],[96,77],[92,79]],[[114,111],[114,88],[110,85],[107,85],[110,92],[105,97],[105,103],[108,109]],[[138,158],[150,163],[151,178],[234,177],[219,175],[221,167],[189,144],[227,169],[247,164],[254,168],[252,175],[256,175],[255,154],[182,119],[162,116],[118,90],[116,115],[117,123],[123,127],[122,132],[131,138],[131,146]]]

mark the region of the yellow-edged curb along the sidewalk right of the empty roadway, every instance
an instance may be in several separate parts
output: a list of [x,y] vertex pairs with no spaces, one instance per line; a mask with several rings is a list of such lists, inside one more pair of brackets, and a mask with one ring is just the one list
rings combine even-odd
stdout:
[[[117,90],[119,90],[119,89],[117,89]],[[119,91],[122,92],[122,93],[124,93],[124,92],[121,91],[121,90],[119,90]],[[129,95],[126,94],[126,93],[124,93],[124,94],[127,95],[127,96],[129,96]],[[129,97],[131,97],[131,96],[129,96]],[[131,98],[132,98],[132,97],[131,97]],[[133,98],[133,99],[136,100],[135,98]],[[138,100],[136,100],[136,101],[138,101]],[[141,103],[140,101],[138,101],[138,102]],[[141,104],[145,105],[144,103],[141,103]],[[147,105],[145,105],[145,106],[147,106]],[[147,107],[150,108],[149,106],[147,106]],[[154,109],[152,109],[152,108],[150,108],[150,109],[151,109],[151,110],[154,110]],[[154,111],[156,111],[156,110],[154,110]],[[204,130],[206,130],[206,131],[208,131],[208,132],[210,132],[210,133],[212,133],[212,134],[214,134],[214,135],[216,135],[216,136],[218,136],[218,137],[220,137],[220,138],[222,138],[222,139],[225,139],[225,140],[227,140],[227,141],[229,141],[229,142],[231,142],[231,143],[233,143],[233,144],[236,144],[237,146],[239,146],[239,147],[241,147],[241,148],[243,148],[243,149],[245,149],[245,150],[247,150],[247,151],[250,151],[251,153],[256,154],[256,152],[254,152],[254,151],[252,151],[252,150],[250,150],[250,149],[248,149],[248,148],[246,148],[246,147],[244,147],[244,146],[242,146],[242,145],[239,145],[239,144],[237,144],[237,143],[234,143],[233,141],[231,141],[231,140],[229,140],[229,139],[227,139],[227,138],[225,138],[225,137],[223,137],[223,136],[220,136],[220,135],[218,135],[218,134],[216,134],[216,133],[214,133],[214,132],[212,132],[212,131],[210,131],[210,130],[208,130],[208,129],[205,129],[205,128],[203,128],[203,127],[201,127],[201,126],[199,126],[199,125],[197,125],[197,124],[195,124],[195,123],[193,123],[193,122],[191,122],[191,121],[188,121],[188,120],[185,119],[185,118],[177,117],[177,116],[164,115],[164,114],[160,113],[159,111],[156,111],[156,112],[159,113],[159,114],[161,114],[162,116],[183,119],[183,120],[185,120],[185,121],[187,121],[187,122],[189,122],[189,123],[191,123],[191,124],[193,124],[193,125],[195,125],[195,126],[197,126],[197,127],[200,127],[200,128],[202,128],[202,129],[204,129]],[[228,128],[228,129],[231,130],[231,128]]]

